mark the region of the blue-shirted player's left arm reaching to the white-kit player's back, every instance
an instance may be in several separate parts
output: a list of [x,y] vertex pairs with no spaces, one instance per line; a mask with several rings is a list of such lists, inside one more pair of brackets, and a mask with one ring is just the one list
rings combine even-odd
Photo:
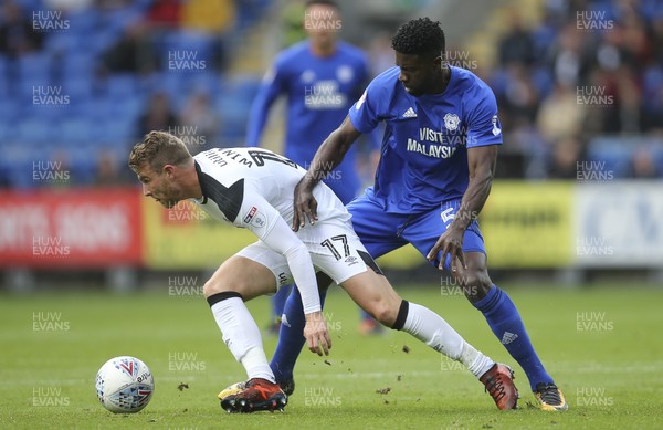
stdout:
[[317,201],[313,197],[313,189],[317,182],[343,161],[346,153],[355,140],[361,135],[349,117],[346,116],[343,124],[332,132],[315,153],[308,171],[295,187],[293,230],[298,231],[304,227],[306,217],[313,224],[317,221]]

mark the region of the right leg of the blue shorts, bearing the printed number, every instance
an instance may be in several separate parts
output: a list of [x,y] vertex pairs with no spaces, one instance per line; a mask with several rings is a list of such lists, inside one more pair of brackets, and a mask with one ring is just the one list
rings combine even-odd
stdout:
[[[425,258],[429,251],[435,245],[435,242],[438,242],[438,239],[440,239],[440,235],[446,231],[459,208],[460,200],[456,200],[443,203],[440,208],[422,213],[406,227],[403,238],[412,243],[412,245]],[[485,262],[486,249],[483,235],[478,228],[478,222],[473,220],[467,227],[467,230],[465,230],[463,237],[463,253],[467,254],[475,252],[482,253]],[[441,255],[442,252],[438,254],[435,261],[431,262],[431,264],[438,266],[440,264]],[[450,264],[451,256],[448,255],[444,262],[444,269],[449,271]]]

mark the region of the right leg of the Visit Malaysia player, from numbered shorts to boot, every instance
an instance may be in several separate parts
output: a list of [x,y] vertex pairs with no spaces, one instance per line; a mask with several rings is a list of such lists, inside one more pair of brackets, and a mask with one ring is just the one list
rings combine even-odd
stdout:
[[[457,202],[443,206],[441,208],[442,217],[438,210],[420,217],[415,222],[408,226],[404,231],[406,238],[423,255],[427,255],[453,220],[453,213],[457,210]],[[556,405],[557,407],[552,407],[552,409],[566,409],[564,396],[559,392],[552,378],[538,358],[516,306],[508,294],[491,281],[486,266],[483,237],[476,221],[473,221],[465,231],[463,252],[467,270],[456,268],[457,271],[453,273],[450,268],[450,258],[448,258],[444,268],[453,273],[465,296],[484,314],[495,336],[520,365],[527,375],[533,391],[535,394],[543,392],[537,396],[537,399],[540,401],[543,396],[548,403],[544,405],[541,402],[541,408],[548,409],[547,406]],[[439,265],[439,261],[434,261],[433,264]]]

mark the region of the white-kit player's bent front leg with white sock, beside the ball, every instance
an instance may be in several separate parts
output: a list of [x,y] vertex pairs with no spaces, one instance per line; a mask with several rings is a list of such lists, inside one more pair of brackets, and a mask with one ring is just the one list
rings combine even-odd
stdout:
[[[251,250],[251,245],[243,252],[248,249]],[[262,252],[260,247],[257,251]],[[276,285],[276,277],[267,265],[243,255],[228,259],[204,284],[203,294],[223,340],[244,367],[249,379],[243,391],[222,399],[221,406],[228,411],[281,409],[287,401],[275,384],[260,329],[244,304],[244,301],[274,292]]]

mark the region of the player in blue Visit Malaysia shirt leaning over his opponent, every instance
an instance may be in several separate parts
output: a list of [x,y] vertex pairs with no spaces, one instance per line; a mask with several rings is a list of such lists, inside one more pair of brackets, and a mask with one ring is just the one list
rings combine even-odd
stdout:
[[[491,281],[477,214],[493,181],[502,129],[491,88],[473,73],[444,62],[444,33],[428,18],[403,24],[392,39],[396,67],[368,86],[316,153],[295,190],[293,229],[316,220],[312,191],[360,134],[385,123],[375,186],[348,210],[366,249],[379,258],[411,243],[463,285],[493,333],[523,367],[543,410],[566,410],[564,395],[534,350],[506,292]],[[271,363],[284,391],[303,345],[302,307],[293,292]]]

